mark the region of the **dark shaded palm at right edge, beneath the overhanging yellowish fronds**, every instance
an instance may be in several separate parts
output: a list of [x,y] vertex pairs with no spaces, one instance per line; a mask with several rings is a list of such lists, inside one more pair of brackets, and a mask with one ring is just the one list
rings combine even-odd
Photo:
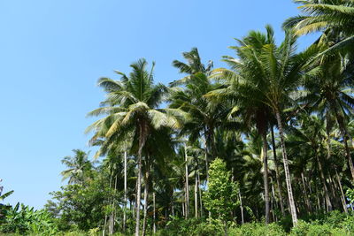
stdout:
[[[322,37],[321,41],[312,47],[323,51],[331,44],[331,37]],[[352,67],[351,60],[339,52],[319,57],[312,72],[309,72],[304,80],[304,95],[300,98],[300,103],[307,104],[312,110],[319,112],[322,118],[327,119],[327,131],[330,129],[331,120],[335,118],[342,133],[351,177],[354,179],[354,164],[350,156],[352,143],[348,132],[348,123],[354,111]]]

